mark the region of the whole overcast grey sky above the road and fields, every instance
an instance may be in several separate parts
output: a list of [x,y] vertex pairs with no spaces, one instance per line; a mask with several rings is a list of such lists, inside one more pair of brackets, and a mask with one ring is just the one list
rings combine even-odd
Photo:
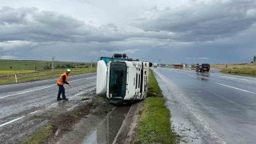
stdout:
[[0,58],[251,62],[256,0],[0,0]]

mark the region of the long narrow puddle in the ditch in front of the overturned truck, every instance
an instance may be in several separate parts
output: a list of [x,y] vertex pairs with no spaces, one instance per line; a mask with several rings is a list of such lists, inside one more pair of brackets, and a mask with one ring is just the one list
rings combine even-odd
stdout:
[[84,138],[82,144],[112,143],[126,118],[130,106],[116,107],[97,128]]

